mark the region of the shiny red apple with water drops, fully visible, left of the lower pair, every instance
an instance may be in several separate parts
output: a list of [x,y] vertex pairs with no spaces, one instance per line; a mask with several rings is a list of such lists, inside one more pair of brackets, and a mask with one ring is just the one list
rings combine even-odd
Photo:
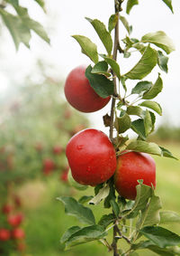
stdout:
[[115,172],[114,147],[100,130],[87,128],[71,137],[66,155],[72,176],[79,184],[98,185]]

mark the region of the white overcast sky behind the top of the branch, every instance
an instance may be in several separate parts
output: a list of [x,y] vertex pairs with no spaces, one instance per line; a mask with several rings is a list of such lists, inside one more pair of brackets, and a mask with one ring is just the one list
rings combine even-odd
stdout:
[[[36,35],[33,35],[31,51],[22,45],[19,52],[15,52],[14,43],[9,33],[3,31],[3,41],[1,41],[0,48],[0,84],[2,95],[7,88],[11,87],[10,81],[21,81],[28,73],[34,73],[34,76],[36,76],[34,64],[37,58],[52,65],[54,75],[62,79],[66,79],[67,73],[76,66],[82,63],[91,63],[80,52],[79,45],[71,37],[73,34],[82,34],[89,37],[94,43],[98,44],[99,52],[104,51],[103,47],[99,46],[101,43],[94,33],[91,24],[85,20],[85,16],[97,18],[104,24],[107,24],[110,15],[113,14],[112,0],[49,0],[47,1],[48,15],[43,14],[40,7],[34,1],[29,2],[31,2],[31,5],[29,5],[31,17],[44,24],[49,33],[51,45],[49,46]],[[163,74],[164,90],[156,100],[163,107],[164,117],[167,116],[172,123],[180,125],[180,1],[174,0],[172,2],[175,14],[170,12],[162,0],[139,0],[139,5],[133,7],[130,15],[126,15],[125,12],[123,12],[123,15],[126,16],[130,24],[133,24],[132,37],[140,39],[145,33],[162,30],[174,41],[176,51],[169,55],[169,71],[168,74]],[[22,1],[22,5],[23,3],[24,1]],[[125,34],[125,30],[121,26],[121,39]],[[128,71],[132,65],[133,60],[132,62],[130,62],[130,59],[127,60],[127,64],[121,68],[122,73],[123,69]],[[96,128],[102,128],[103,122],[101,117],[108,109],[110,109],[110,105],[103,110],[89,114],[90,119],[93,119],[94,123],[96,123],[94,124]],[[160,118],[159,122],[162,119]]]

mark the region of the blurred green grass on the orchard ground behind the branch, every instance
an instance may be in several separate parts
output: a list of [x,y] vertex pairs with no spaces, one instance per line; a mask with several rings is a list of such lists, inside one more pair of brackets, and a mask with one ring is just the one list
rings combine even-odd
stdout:
[[[179,145],[164,145],[171,150],[175,156],[179,156]],[[157,163],[157,189],[156,194],[160,196],[164,210],[171,210],[180,213],[180,163],[171,158],[155,156]],[[32,185],[33,187],[33,185]],[[79,198],[83,194],[91,194],[92,190],[75,192],[67,185],[62,185],[55,177],[47,179],[46,189],[40,190],[35,186],[36,193],[40,193],[39,200],[33,204],[33,196],[29,197],[25,204],[26,220],[24,228],[26,231],[27,255],[31,256],[96,256],[112,255],[102,244],[89,242],[78,245],[70,251],[63,251],[63,245],[59,240],[63,232],[72,225],[79,225],[76,218],[67,216],[64,206],[56,200],[59,195],[75,195]],[[21,193],[26,194],[27,187],[24,186]],[[30,187],[28,188],[30,189]],[[75,194],[76,193],[76,194]],[[31,206],[31,204],[33,206]],[[102,213],[107,213],[101,206],[94,207],[96,220],[99,220]],[[179,224],[166,226],[178,233]],[[155,256],[151,251],[139,251],[140,256]],[[13,255],[12,255],[13,256]],[[16,255],[17,256],[17,255]]]

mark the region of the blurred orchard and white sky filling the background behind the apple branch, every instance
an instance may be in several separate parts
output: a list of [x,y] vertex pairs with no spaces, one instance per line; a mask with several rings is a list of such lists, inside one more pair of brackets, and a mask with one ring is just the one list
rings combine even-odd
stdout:
[[[160,0],[139,2],[127,16],[133,24],[132,36],[134,33],[140,38],[149,31],[163,30],[175,43],[169,71],[163,75],[164,91],[158,96],[163,117],[157,119],[151,140],[180,157],[180,4],[174,1],[175,14],[171,14]],[[102,117],[109,112],[110,105],[96,113],[79,113],[67,104],[63,85],[69,71],[80,64],[89,64],[70,35],[83,34],[98,44],[85,16],[107,24],[113,13],[113,1],[46,0],[45,3],[46,14],[35,1],[20,1],[31,18],[44,26],[50,45],[32,33],[31,49],[20,44],[16,52],[12,37],[0,19],[0,229],[9,230],[14,237],[0,241],[0,255],[108,255],[97,242],[63,251],[60,236],[69,226],[76,225],[76,219],[65,215],[64,206],[56,198],[61,194],[79,197],[91,191],[91,188],[77,191],[69,185],[65,156],[68,139],[88,127],[108,133]],[[123,28],[120,36],[125,36]],[[123,69],[130,69],[126,60]],[[165,210],[180,213],[180,164],[171,158],[155,158],[157,194]],[[169,228],[180,234],[178,226]],[[143,252],[143,255],[155,254]]]

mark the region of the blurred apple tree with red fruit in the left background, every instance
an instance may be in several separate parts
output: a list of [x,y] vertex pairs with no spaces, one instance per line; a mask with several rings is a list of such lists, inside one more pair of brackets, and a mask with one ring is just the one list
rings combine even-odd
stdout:
[[0,255],[25,248],[23,206],[35,199],[18,192],[23,184],[39,180],[45,185],[53,176],[70,193],[65,147],[70,137],[88,125],[67,106],[62,82],[47,77],[39,67],[40,83],[28,77],[0,102]]

